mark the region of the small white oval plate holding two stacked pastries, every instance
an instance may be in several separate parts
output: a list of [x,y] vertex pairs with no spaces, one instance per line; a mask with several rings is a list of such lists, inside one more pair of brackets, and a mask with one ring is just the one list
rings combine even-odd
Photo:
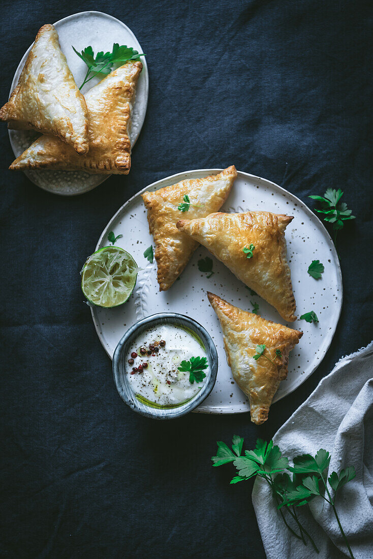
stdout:
[[[56,21],[53,25],[58,31],[61,49],[66,56],[67,63],[78,86],[84,80],[87,67],[83,60],[74,53],[72,45],[78,52],[84,50],[86,46],[91,45],[93,52],[96,54],[100,50],[111,52],[113,43],[119,42],[120,45],[132,46],[139,51],[139,53],[143,52],[133,32],[124,23],[117,20],[115,17],[109,16],[107,13],[74,13],[72,16],[64,17],[63,20]],[[33,44],[34,43],[32,43],[32,45]],[[13,77],[10,93],[12,93],[18,83],[18,79],[32,45],[23,55],[18,65]],[[148,104],[149,74],[145,56],[141,56],[141,62],[144,67],[136,88],[136,98],[131,116],[130,140],[132,147],[139,137]],[[88,89],[95,86],[99,81],[100,78],[93,78],[89,84],[83,87],[82,92],[87,92]],[[16,158],[32,144],[37,136],[37,132],[32,130],[9,130],[11,146]],[[110,177],[110,175],[90,174],[84,171],[40,170],[24,171],[24,173],[31,182],[40,186],[40,188],[64,196],[73,196],[75,194],[88,192]]]

